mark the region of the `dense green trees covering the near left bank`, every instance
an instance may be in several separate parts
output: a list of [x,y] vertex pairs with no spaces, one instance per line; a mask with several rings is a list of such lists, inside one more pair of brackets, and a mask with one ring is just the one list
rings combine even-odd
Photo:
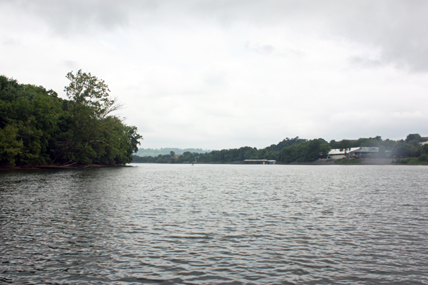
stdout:
[[141,139],[110,113],[120,108],[91,73],[68,73],[58,98],[42,86],[0,76],[0,165],[125,164]]

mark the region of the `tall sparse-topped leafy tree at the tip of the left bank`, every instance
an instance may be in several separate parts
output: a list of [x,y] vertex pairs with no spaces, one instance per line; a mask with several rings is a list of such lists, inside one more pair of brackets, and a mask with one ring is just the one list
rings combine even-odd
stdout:
[[73,114],[66,145],[71,147],[67,159],[76,163],[127,163],[138,150],[136,127],[124,125],[116,116],[109,115],[121,108],[116,98],[110,97],[106,83],[79,70],[66,76],[71,82],[65,87]]

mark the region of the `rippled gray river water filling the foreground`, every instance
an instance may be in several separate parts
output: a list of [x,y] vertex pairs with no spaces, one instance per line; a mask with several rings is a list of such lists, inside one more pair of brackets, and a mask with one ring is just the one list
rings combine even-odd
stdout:
[[428,284],[428,167],[0,172],[2,284]]

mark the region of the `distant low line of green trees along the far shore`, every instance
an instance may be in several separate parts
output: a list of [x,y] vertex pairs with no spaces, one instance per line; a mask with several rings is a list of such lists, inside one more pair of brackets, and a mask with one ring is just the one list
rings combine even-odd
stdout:
[[213,150],[206,153],[184,152],[175,158],[172,154],[139,157],[134,155],[133,162],[152,163],[186,163],[186,162],[219,162],[230,163],[243,160],[277,160],[277,162],[313,162],[326,158],[332,149],[350,150],[351,147],[379,147],[379,157],[419,157],[419,161],[428,161],[428,144],[421,145],[425,139],[419,134],[410,134],[406,140],[382,140],[375,138],[360,138],[358,140],[341,140],[327,142],[322,138],[305,140],[299,137],[285,138],[277,145],[263,149],[256,147],[240,147],[230,150]]

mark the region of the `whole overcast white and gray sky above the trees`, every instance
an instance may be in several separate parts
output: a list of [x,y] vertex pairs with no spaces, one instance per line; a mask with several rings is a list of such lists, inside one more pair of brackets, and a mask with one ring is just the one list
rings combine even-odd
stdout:
[[428,1],[0,0],[0,74],[106,81],[141,147],[428,136]]

